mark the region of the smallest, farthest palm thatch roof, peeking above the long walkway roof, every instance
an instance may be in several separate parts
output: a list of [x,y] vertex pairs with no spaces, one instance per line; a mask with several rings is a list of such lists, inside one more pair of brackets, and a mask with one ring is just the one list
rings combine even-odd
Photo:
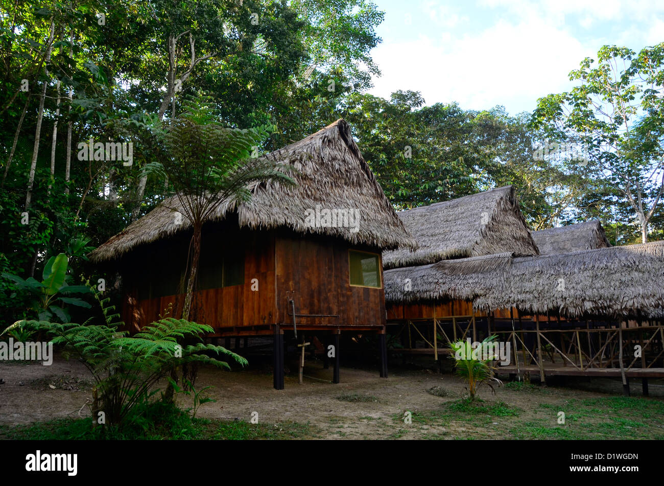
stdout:
[[534,231],[532,235],[541,255],[611,246],[598,220]]

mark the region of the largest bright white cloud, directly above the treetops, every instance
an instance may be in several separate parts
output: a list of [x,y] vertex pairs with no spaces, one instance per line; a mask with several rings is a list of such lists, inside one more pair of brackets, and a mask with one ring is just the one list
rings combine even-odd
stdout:
[[510,111],[533,110],[540,96],[568,87],[567,74],[592,54],[566,31],[542,19],[517,24],[498,21],[479,33],[446,42],[389,42],[374,50],[382,70],[372,92],[389,98],[394,90],[418,90],[427,104],[457,101],[466,109],[504,104]]

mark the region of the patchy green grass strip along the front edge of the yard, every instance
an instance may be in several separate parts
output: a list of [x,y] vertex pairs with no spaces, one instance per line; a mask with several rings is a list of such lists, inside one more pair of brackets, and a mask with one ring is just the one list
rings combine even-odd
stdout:
[[[664,439],[664,402],[642,397],[558,398],[546,390],[524,388],[518,393],[544,395],[528,409],[502,400],[447,400],[428,410],[372,417],[359,411],[357,418],[329,417],[323,431],[309,422],[250,424],[242,421],[191,418],[164,405],[150,406],[122,432],[93,428],[90,418],[58,419],[29,426],[0,426],[1,439],[32,440],[288,440],[335,436],[381,439]],[[506,397],[507,398],[507,397]],[[361,396],[340,396],[369,406]],[[560,412],[564,423],[558,423]],[[358,430],[361,428],[361,431]]]

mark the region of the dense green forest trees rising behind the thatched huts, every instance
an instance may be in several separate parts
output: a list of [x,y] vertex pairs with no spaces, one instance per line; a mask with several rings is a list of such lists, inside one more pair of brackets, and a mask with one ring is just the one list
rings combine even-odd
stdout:
[[[384,13],[368,0],[0,5],[0,272],[41,276],[64,253],[92,277],[90,247],[171,194],[144,170],[159,157],[155,131],[200,94],[227,127],[270,133],[260,153],[345,118],[397,209],[513,184],[534,230],[599,218],[627,244],[647,216],[647,238],[664,237],[664,44],[606,48],[572,73],[578,90],[511,115],[369,94]],[[630,69],[618,81],[616,60]],[[572,144],[584,157],[561,149]],[[0,280],[7,319],[16,292]]]

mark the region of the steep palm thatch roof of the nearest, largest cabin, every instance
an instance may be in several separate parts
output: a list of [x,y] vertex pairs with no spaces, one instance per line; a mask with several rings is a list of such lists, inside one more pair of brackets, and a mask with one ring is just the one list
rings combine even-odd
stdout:
[[[286,227],[300,234],[337,236],[351,244],[378,248],[417,246],[363,159],[345,120],[337,120],[265,157],[297,169],[293,177],[297,184],[256,183],[248,188],[252,193],[250,201],[221,204],[210,220],[222,220],[236,212],[241,228]],[[319,212],[357,214],[358,224],[351,224],[348,218],[348,222],[344,220],[331,226],[324,220],[324,213],[321,224],[311,224],[307,216],[317,208]],[[186,214],[177,197],[163,201],[92,252],[92,260],[114,260],[136,246],[191,228],[187,218],[176,220],[177,212]]]

